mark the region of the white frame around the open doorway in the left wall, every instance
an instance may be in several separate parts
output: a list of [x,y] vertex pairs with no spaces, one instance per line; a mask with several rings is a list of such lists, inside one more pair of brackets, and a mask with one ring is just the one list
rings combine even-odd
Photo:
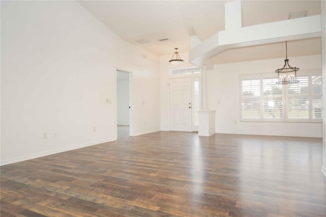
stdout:
[[120,68],[115,68],[115,139],[118,139],[118,85],[117,85],[117,73],[118,71],[120,72],[126,72],[129,74],[129,137],[133,137],[133,109],[132,109],[132,79],[133,79],[133,72],[130,70],[125,70],[125,69],[120,69]]

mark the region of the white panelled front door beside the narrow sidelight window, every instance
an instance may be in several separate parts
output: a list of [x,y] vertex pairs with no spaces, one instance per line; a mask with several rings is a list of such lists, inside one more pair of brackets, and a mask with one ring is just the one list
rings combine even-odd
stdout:
[[192,79],[170,79],[170,130],[192,131]]

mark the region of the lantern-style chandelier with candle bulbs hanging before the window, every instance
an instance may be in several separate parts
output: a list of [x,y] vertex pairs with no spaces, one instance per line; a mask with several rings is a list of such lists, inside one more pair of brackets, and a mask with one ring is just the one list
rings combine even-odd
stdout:
[[287,41],[285,41],[285,50],[286,50],[286,58],[284,60],[285,64],[281,69],[275,70],[275,72],[279,75],[279,81],[276,84],[295,84],[298,83],[299,80],[296,77],[296,71],[299,68],[291,67],[289,65],[289,59],[287,59]]

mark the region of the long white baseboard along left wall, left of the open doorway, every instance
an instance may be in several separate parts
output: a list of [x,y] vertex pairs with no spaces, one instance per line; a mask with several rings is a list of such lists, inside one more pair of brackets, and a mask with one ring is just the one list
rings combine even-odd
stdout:
[[88,146],[92,146],[92,145],[98,145],[101,143],[112,142],[115,140],[117,140],[117,139],[111,138],[111,139],[100,140],[100,141],[91,142],[91,143],[84,143],[84,144],[80,144],[80,145],[70,146],[70,147],[66,147],[66,148],[59,148],[59,149],[55,149],[55,150],[44,151],[44,152],[40,152],[40,153],[36,153],[36,154],[29,154],[29,155],[25,155],[25,156],[21,156],[21,157],[14,157],[11,159],[2,160],[0,162],[0,165],[4,166],[7,164],[13,164],[15,162],[30,160],[30,159],[34,159],[34,158],[38,158],[38,157],[44,157],[44,156],[51,155],[51,154],[58,154],[60,152],[70,151],[70,150],[74,150],[74,149],[78,149],[78,148],[84,148],[84,147],[88,147]]

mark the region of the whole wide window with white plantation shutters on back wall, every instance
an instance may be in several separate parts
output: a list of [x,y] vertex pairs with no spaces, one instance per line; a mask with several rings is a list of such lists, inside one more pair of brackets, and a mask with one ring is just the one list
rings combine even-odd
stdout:
[[321,122],[322,76],[319,72],[304,72],[298,76],[299,83],[290,85],[276,84],[278,77],[273,73],[243,75],[241,120]]

